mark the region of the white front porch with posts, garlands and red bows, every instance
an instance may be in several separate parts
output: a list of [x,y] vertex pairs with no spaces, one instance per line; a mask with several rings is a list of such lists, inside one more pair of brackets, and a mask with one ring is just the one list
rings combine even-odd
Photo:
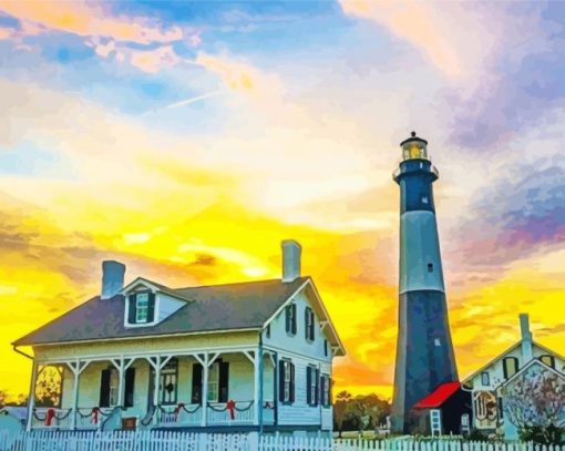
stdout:
[[[257,348],[38,361],[28,429],[273,426],[275,370],[276,356]],[[60,396],[42,404],[42,379],[56,373]]]

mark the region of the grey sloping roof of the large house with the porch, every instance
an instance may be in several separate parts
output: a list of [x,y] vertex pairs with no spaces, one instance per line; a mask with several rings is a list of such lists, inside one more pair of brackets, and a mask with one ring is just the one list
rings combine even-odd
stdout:
[[12,345],[260,329],[309,280],[309,277],[299,277],[291,283],[273,279],[176,289],[160,285],[161,290],[186,299],[186,305],[155,326],[135,328],[124,327],[122,295],[104,300],[96,296]]

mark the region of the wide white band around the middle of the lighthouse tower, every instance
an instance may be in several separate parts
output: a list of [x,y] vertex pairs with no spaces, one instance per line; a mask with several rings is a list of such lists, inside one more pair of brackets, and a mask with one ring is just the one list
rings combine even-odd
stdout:
[[433,212],[400,216],[400,294],[415,290],[445,291]]

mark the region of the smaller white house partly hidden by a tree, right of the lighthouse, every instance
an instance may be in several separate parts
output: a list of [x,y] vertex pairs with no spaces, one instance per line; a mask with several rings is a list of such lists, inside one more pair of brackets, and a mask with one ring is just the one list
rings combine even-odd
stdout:
[[[526,314],[520,315],[520,326],[521,339],[517,342],[462,382],[463,390],[471,391],[472,394],[472,427],[484,434],[497,434],[506,440],[518,438],[517,424],[514,423],[516,419],[508,398],[513,386],[518,382],[537,386],[543,378],[551,378],[556,385],[565,387],[565,357],[533,340]],[[554,389],[559,390],[556,385],[553,385]],[[524,398],[535,396],[540,393],[526,391],[523,394]],[[533,410],[540,404],[534,398],[524,399],[524,406],[533,406]],[[532,409],[522,410],[528,413]],[[562,406],[561,418],[565,424],[565,406]]]

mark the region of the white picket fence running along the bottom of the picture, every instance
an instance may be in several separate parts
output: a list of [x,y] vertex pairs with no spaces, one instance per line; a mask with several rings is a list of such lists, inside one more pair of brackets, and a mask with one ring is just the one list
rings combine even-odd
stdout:
[[533,443],[333,440],[287,435],[207,434],[181,431],[61,432],[0,431],[1,451],[565,451]]

